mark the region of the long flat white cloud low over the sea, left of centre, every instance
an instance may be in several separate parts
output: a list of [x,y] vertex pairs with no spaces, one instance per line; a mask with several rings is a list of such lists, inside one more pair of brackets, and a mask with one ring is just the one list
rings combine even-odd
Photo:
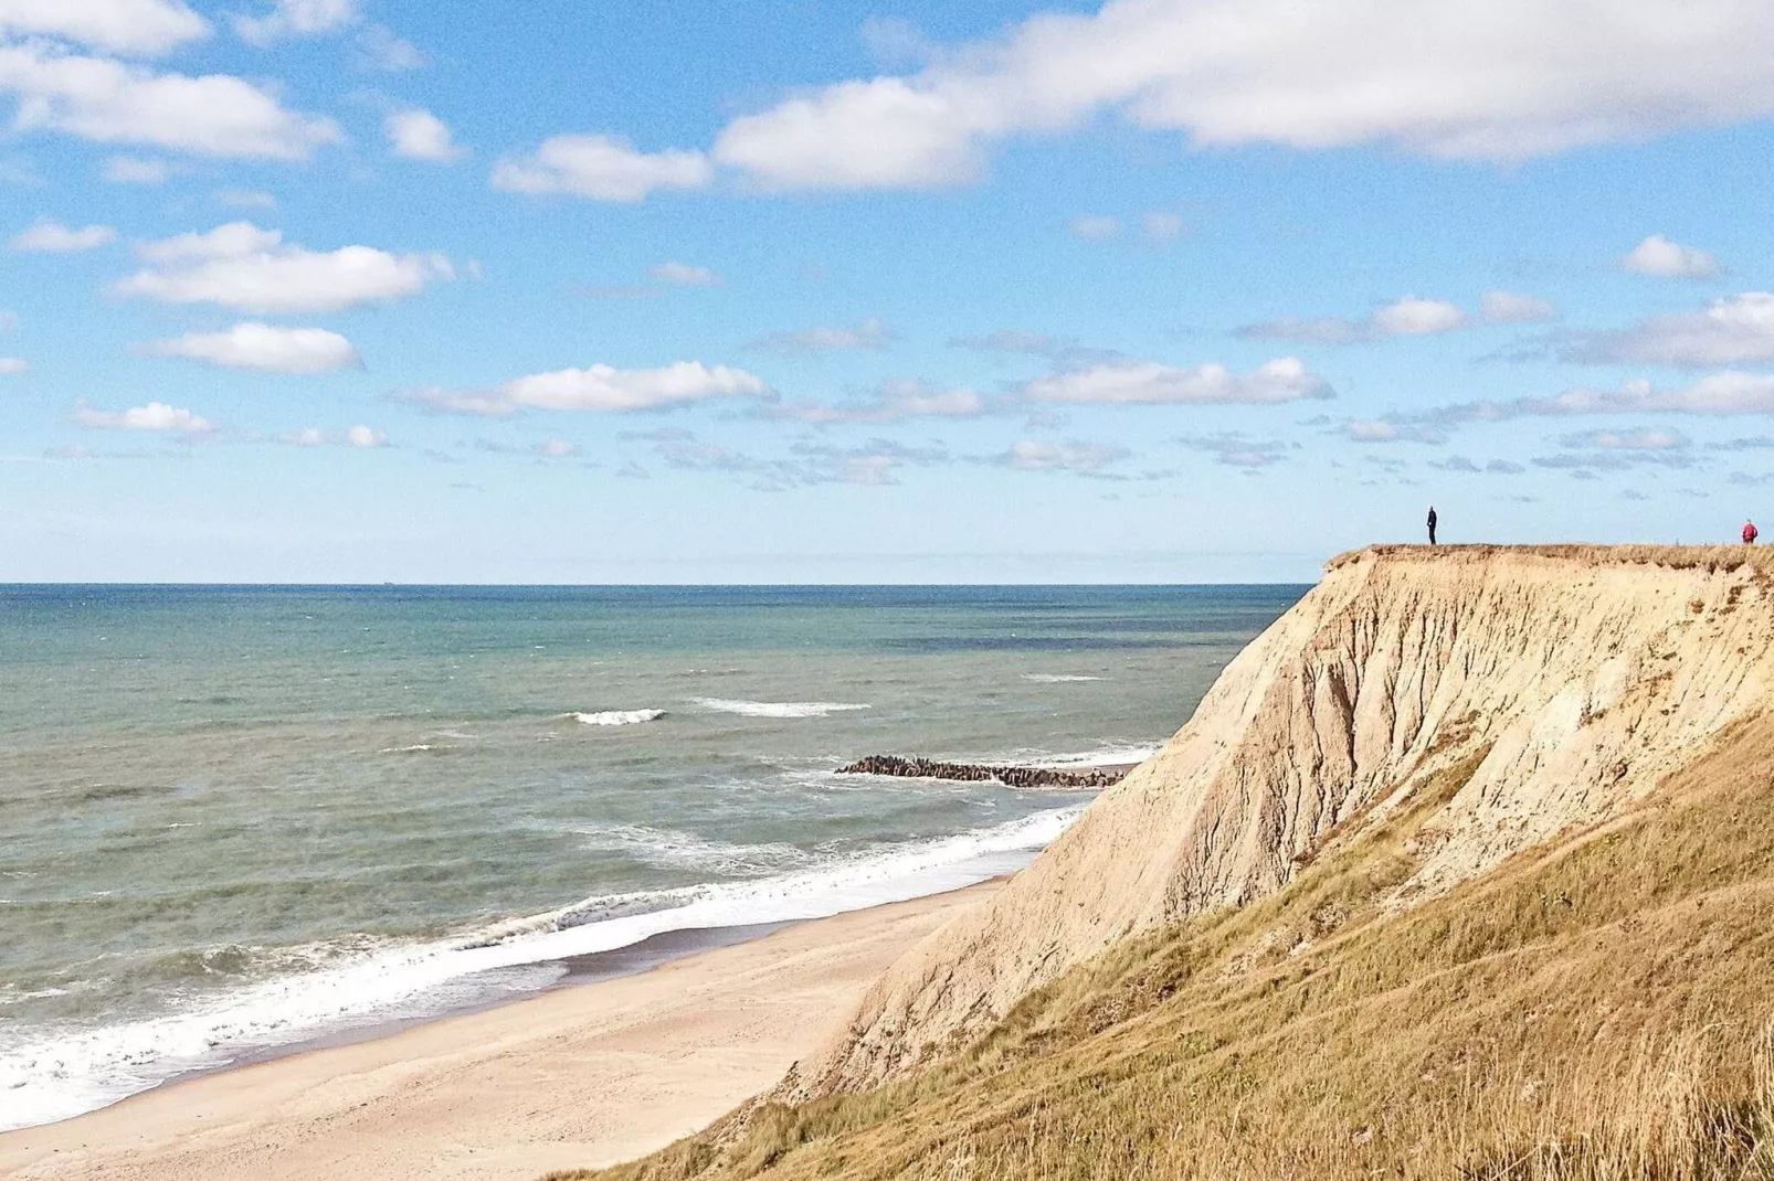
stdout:
[[667,410],[724,397],[765,397],[761,378],[727,365],[676,362],[660,369],[557,369],[513,378],[491,390],[415,390],[403,401],[467,415],[509,415],[518,410],[591,410],[623,413]]

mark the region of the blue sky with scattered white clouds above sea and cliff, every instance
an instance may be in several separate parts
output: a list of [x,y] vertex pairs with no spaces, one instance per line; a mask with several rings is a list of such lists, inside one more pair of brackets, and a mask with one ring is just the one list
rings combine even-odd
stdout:
[[1770,117],[1762,0],[0,0],[0,582],[1731,541]]

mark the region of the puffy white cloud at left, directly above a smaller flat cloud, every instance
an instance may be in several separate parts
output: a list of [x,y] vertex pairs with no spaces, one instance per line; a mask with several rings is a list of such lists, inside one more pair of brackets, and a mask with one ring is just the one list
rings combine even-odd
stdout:
[[154,266],[115,282],[114,293],[247,312],[332,312],[399,300],[431,280],[454,277],[440,254],[390,254],[374,246],[316,252],[284,243],[279,231],[250,222],[145,243],[138,252]]

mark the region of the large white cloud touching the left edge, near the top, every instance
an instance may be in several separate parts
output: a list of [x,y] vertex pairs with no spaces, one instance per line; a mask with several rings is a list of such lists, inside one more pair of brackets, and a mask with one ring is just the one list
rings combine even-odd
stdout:
[[12,126],[98,144],[153,144],[199,156],[305,160],[341,137],[332,119],[286,110],[232,74],[158,74],[44,44],[0,44],[0,92],[18,98]]

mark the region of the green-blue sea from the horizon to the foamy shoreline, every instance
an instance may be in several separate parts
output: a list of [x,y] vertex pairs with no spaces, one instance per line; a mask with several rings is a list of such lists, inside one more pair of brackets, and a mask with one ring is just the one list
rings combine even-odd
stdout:
[[0,587],[0,1130],[1015,871],[1306,589]]

